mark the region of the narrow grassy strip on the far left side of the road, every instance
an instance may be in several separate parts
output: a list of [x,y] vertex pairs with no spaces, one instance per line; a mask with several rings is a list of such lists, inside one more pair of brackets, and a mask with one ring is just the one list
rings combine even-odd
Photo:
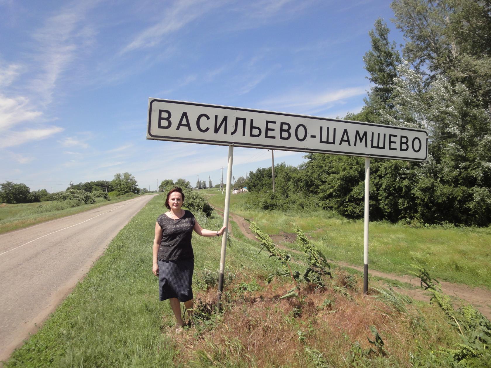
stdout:
[[51,202],[42,203],[19,203],[7,204],[3,203],[0,206],[0,234],[23,229],[28,226],[36,225],[41,222],[54,220],[56,218],[70,216],[86,210],[92,210],[101,206],[106,206],[111,203],[118,203],[135,198],[136,195],[122,195],[112,199],[111,201],[100,201],[91,205],[82,205],[78,207],[68,208],[65,210],[56,210],[52,212],[36,213],[36,208],[40,205],[50,204]]

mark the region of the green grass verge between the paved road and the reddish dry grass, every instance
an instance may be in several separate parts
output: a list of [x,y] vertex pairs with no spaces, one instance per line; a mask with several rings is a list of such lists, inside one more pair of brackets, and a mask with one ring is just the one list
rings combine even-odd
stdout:
[[[158,301],[158,279],[151,272],[155,221],[164,210],[159,196],[138,212],[4,367],[173,367],[183,347],[166,333],[174,316],[168,302]],[[219,229],[222,221],[215,217],[200,225]],[[193,234],[197,277],[204,269],[218,271],[220,245],[217,237]],[[227,266],[242,272],[273,269],[266,254],[258,257],[246,243],[233,241],[227,253]]]

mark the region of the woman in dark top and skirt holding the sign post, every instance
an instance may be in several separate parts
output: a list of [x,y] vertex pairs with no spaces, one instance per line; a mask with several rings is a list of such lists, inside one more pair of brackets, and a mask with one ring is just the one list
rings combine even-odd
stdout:
[[185,195],[178,186],[167,193],[165,207],[169,210],[157,218],[153,245],[154,275],[159,276],[160,300],[169,299],[176,317],[176,332],[184,326],[181,304],[186,310],[193,306],[191,290],[194,254],[191,247],[191,233],[194,230],[202,237],[219,237],[226,227],[218,231],[201,228],[191,211],[182,210]]

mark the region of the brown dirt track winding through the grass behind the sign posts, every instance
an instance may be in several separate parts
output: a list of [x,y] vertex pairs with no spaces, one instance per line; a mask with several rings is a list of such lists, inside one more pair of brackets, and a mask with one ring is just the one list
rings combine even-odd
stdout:
[[[217,210],[217,212],[220,213],[221,216],[223,216],[223,209],[215,207],[215,210]],[[252,234],[252,232],[249,229],[249,224],[243,217],[230,212],[229,219],[237,223],[239,229],[247,238],[257,241],[256,237],[254,236],[254,234]],[[288,243],[295,242],[295,235],[280,232],[279,235],[273,235],[271,236],[271,238],[273,239],[273,242],[277,247],[286,249],[292,253],[297,253],[297,254],[301,253],[300,251],[287,246]],[[330,261],[330,262],[339,264],[340,266],[343,267],[349,267],[358,270],[360,272],[363,272],[363,267],[360,266],[356,266],[345,262],[336,262],[336,261]],[[405,293],[416,300],[430,301],[430,293],[420,289],[420,280],[415,276],[409,276],[409,275],[401,276],[393,273],[376,271],[373,269],[369,270],[369,275],[408,283],[412,285],[415,289],[398,289],[398,291]],[[448,294],[451,297],[453,297],[452,299],[454,302],[454,306],[456,308],[460,307],[462,305],[462,300],[464,300],[472,304],[474,307],[476,307],[487,318],[491,319],[491,291],[490,290],[483,289],[483,288],[471,288],[466,285],[454,284],[449,282],[440,282],[440,284],[441,284],[442,291],[445,294]]]

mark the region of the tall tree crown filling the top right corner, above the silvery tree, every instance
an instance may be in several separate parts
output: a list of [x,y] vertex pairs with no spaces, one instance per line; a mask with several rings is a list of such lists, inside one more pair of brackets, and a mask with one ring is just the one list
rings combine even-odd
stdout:
[[404,57],[431,81],[460,82],[491,110],[491,2],[396,0],[396,26],[408,40]]

